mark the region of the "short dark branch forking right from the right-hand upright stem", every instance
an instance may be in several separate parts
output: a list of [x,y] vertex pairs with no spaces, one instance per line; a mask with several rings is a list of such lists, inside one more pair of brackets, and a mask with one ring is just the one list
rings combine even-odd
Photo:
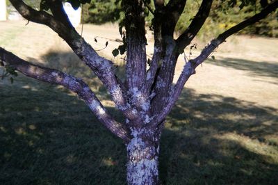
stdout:
[[199,30],[202,28],[204,22],[206,21],[206,18],[209,15],[212,2],[213,0],[202,1],[202,4],[199,7],[197,14],[193,18],[186,31],[184,31],[179,36],[179,38],[177,38],[177,51],[182,51],[186,46],[190,44],[193,38],[195,38],[195,35],[197,35]]

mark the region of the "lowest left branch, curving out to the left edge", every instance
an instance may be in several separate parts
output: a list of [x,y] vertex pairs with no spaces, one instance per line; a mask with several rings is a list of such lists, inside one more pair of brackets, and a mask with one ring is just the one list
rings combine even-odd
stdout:
[[74,93],[77,93],[79,97],[85,101],[85,104],[90,107],[92,113],[95,113],[99,121],[103,123],[107,129],[109,129],[116,136],[122,138],[125,142],[129,141],[129,132],[126,127],[123,124],[116,122],[111,117],[106,108],[104,108],[101,102],[99,102],[95,93],[93,93],[88,85],[81,79],[76,79],[76,77],[58,70],[28,63],[22,58],[15,56],[13,53],[6,51],[2,47],[0,47],[0,61],[4,64],[4,67],[13,67],[15,70],[21,72],[27,77],[48,83],[56,83],[72,90]]

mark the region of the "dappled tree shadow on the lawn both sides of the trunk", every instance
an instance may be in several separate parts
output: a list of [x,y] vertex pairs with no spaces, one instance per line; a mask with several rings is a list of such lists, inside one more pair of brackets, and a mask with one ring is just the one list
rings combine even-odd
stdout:
[[[0,97],[0,184],[125,184],[124,144],[67,90],[19,75]],[[184,90],[161,138],[162,183],[278,184],[277,122],[274,108]]]

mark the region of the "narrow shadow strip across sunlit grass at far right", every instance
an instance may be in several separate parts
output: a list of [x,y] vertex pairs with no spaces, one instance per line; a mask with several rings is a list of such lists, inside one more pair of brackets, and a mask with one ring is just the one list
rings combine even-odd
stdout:
[[236,70],[245,70],[254,76],[278,78],[278,63],[256,62],[239,58],[224,58],[222,60],[209,59],[208,63],[231,67]]

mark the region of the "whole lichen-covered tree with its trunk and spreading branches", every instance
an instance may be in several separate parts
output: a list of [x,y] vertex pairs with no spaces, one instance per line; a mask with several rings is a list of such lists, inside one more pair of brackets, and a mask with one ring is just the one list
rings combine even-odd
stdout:
[[[85,3],[77,0],[70,2],[74,7]],[[241,6],[245,6],[254,1],[242,2]],[[195,74],[195,68],[202,64],[222,42],[278,8],[277,0],[271,3],[261,2],[263,8],[259,13],[227,29],[211,40],[199,56],[186,61],[177,83],[174,84],[173,76],[177,58],[202,28],[210,13],[213,0],[202,1],[197,14],[177,39],[173,36],[174,28],[186,6],[185,0],[170,0],[167,3],[156,0],[154,9],[149,6],[150,1],[122,0],[121,6],[125,16],[121,25],[126,32],[120,31],[123,34],[124,44],[115,49],[113,54],[126,51],[126,81],[121,81],[116,76],[112,61],[99,56],[95,49],[76,32],[63,10],[62,1],[42,0],[41,10],[35,10],[22,0],[10,0],[24,18],[49,26],[70,45],[81,61],[88,65],[104,83],[117,108],[126,118],[124,122],[117,122],[112,118],[82,79],[77,79],[65,72],[34,65],[2,47],[0,47],[0,61],[10,74],[15,74],[16,70],[33,79],[60,84],[78,94],[90,107],[92,113],[97,115],[99,121],[113,134],[122,138],[126,144],[128,184],[159,184],[159,140],[167,114],[177,102],[186,81]],[[232,0],[229,3],[233,6],[237,2]],[[152,20],[154,54],[151,61],[147,60],[145,49],[146,10],[154,14]],[[147,70],[147,63],[150,63],[149,70]]]

